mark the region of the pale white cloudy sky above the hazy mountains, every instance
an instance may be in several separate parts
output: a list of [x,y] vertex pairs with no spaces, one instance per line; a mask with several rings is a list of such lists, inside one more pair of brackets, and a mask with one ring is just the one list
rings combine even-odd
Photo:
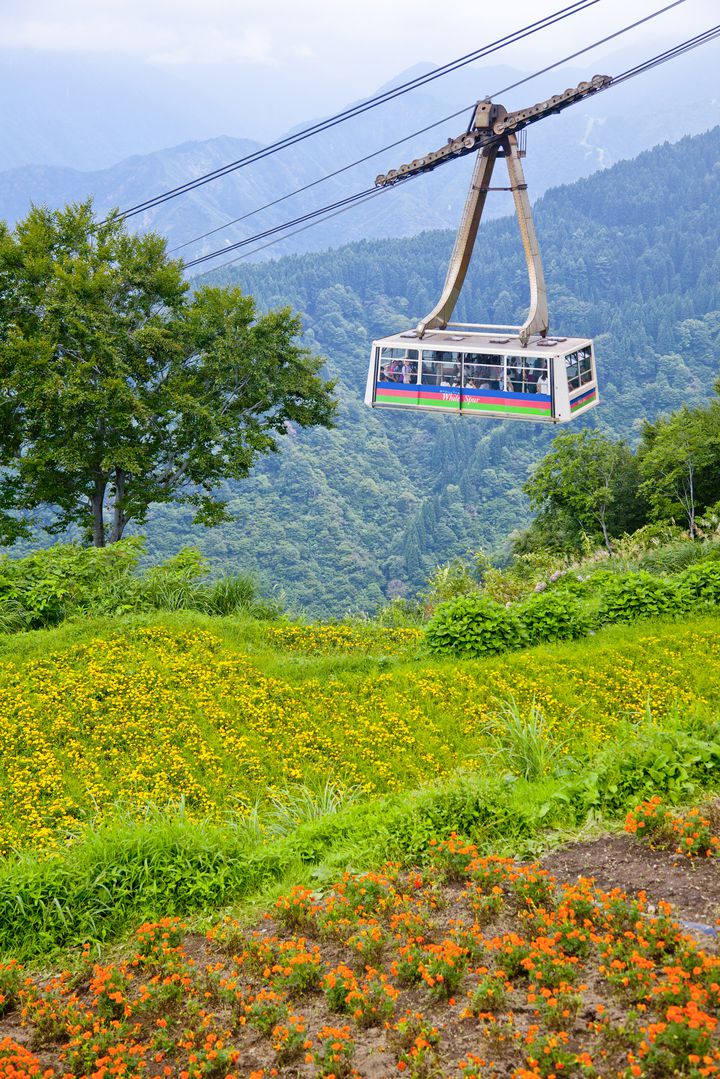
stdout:
[[[446,63],[565,3],[0,0],[0,55],[14,54],[19,71],[49,56],[78,66],[92,59],[210,96],[235,94],[244,133],[272,137],[371,94],[418,63]],[[503,50],[492,63],[531,70],[662,5],[598,0],[589,11]],[[584,66],[602,70],[603,59],[607,66],[619,50],[644,58],[717,23],[719,14],[718,0],[684,0],[620,43],[597,50]],[[480,80],[478,71],[478,96],[487,91]]]

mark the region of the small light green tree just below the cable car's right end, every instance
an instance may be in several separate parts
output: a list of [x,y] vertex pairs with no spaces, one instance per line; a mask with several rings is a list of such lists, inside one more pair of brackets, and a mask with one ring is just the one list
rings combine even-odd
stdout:
[[560,435],[525,484],[542,518],[557,519],[571,535],[599,535],[610,552],[612,538],[642,523],[637,462],[623,441],[598,431]]

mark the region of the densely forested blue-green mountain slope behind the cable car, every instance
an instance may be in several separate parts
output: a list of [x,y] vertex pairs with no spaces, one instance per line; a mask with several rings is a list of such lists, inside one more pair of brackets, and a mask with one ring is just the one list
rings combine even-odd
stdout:
[[[720,373],[720,127],[549,191],[536,222],[553,330],[597,340],[602,404],[585,422],[633,437],[643,419],[706,399]],[[339,382],[338,428],[291,433],[229,490],[231,525],[193,531],[186,510],[158,508],[153,554],[196,537],[218,565],[258,570],[307,610],[342,614],[527,522],[521,484],[553,431],[362,404],[370,342],[429,310],[451,244],[425,232],[215,276],[304,313]],[[520,320],[526,302],[515,220],[491,221],[458,318]]]

